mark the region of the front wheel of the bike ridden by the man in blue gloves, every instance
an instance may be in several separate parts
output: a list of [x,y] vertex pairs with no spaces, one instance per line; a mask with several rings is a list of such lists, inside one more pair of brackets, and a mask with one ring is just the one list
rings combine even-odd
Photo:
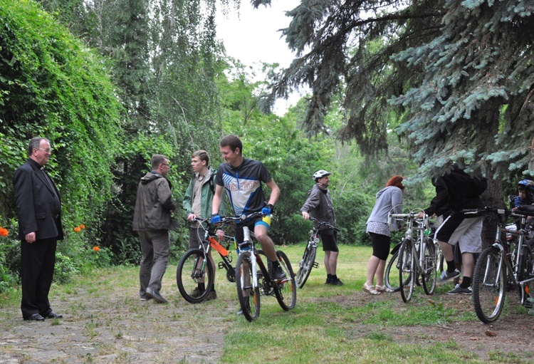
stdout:
[[260,288],[253,287],[251,252],[239,254],[236,262],[237,297],[243,316],[248,321],[254,321],[260,316]]

